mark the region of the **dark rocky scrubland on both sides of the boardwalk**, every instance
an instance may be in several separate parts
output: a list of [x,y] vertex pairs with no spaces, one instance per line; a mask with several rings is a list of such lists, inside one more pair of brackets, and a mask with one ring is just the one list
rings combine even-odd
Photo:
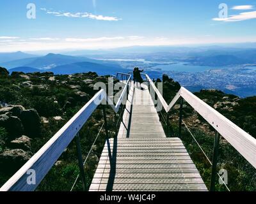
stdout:
[[[179,91],[180,84],[167,75],[163,76],[163,80],[156,80],[156,82],[161,81],[163,81],[164,99],[170,103]],[[10,74],[7,69],[0,68],[0,186],[94,96],[97,92],[93,89],[96,82],[108,85],[108,76],[99,76],[93,72],[74,75],[54,75],[51,72]],[[114,84],[116,82],[118,80],[115,80]],[[256,96],[238,98],[218,90],[202,90],[195,95],[244,131],[256,136]],[[115,114],[111,108],[106,107],[108,135],[115,136]],[[166,119],[166,113],[163,114]],[[119,115],[117,114],[116,117]],[[170,122],[168,128],[172,130],[168,131],[168,136],[177,136],[179,103],[174,106],[168,119]],[[183,120],[211,157],[214,129],[186,101],[184,101]],[[80,131],[83,159],[87,157],[103,124],[102,110],[99,107]],[[163,126],[166,129],[164,124]],[[93,178],[106,141],[103,132],[92,147],[88,163],[84,166],[88,185]],[[182,134],[182,142],[207,184],[211,167],[188,131],[182,130]],[[230,188],[248,190],[256,187],[256,179],[251,180],[256,178],[253,177],[255,171],[252,166],[246,163],[223,138],[220,149],[219,168],[225,168],[230,172]],[[78,174],[76,144],[72,142],[38,186],[38,191],[70,191]],[[244,181],[250,185],[244,186]],[[81,189],[81,184],[78,183],[74,190]]]

